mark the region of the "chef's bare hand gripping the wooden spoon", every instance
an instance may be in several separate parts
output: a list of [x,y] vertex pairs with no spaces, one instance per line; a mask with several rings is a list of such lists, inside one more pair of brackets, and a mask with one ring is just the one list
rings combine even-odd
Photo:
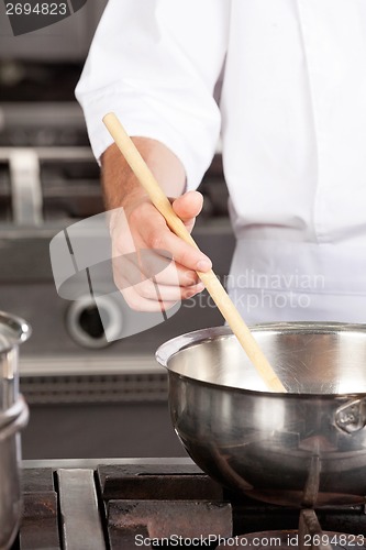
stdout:
[[[134,176],[127,177],[122,208],[113,209],[110,219],[114,282],[132,309],[162,311],[203,289],[196,271],[208,272],[211,261],[175,235],[142,187],[131,185]],[[171,204],[191,231],[202,209],[201,194],[188,191]]]

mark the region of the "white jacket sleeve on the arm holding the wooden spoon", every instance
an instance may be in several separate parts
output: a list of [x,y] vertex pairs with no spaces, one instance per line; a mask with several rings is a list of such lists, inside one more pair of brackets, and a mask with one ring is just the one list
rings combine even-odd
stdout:
[[109,0],[76,97],[97,158],[112,143],[114,111],[130,135],[152,138],[197,187],[218,143],[213,90],[228,44],[229,0]]

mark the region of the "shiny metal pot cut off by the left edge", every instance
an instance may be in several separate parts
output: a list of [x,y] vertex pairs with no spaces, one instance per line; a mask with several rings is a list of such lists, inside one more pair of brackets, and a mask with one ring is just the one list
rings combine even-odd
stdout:
[[25,321],[0,312],[0,550],[10,548],[22,510],[20,430],[29,409],[19,394],[18,346],[30,333]]

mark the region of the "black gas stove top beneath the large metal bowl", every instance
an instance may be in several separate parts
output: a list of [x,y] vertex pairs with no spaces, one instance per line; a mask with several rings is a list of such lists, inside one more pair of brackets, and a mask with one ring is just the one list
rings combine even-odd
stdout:
[[366,546],[364,506],[268,505],[190,459],[25,461],[23,498],[12,550]]

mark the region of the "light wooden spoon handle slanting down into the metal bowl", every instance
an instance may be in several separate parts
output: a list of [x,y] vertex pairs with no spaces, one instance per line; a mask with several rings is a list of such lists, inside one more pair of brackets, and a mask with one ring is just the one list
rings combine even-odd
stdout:
[[[103,122],[136,178],[148,194],[153,205],[160,215],[164,216],[170,230],[188,244],[198,249],[195,240],[187,231],[184,222],[173,210],[169,199],[159,187],[154,175],[115,114],[106,114],[106,117],[103,117]],[[286,392],[282,383],[270,366],[268,360],[213,271],[211,270],[208,273],[197,272],[197,274],[267,387],[273,392]]]

